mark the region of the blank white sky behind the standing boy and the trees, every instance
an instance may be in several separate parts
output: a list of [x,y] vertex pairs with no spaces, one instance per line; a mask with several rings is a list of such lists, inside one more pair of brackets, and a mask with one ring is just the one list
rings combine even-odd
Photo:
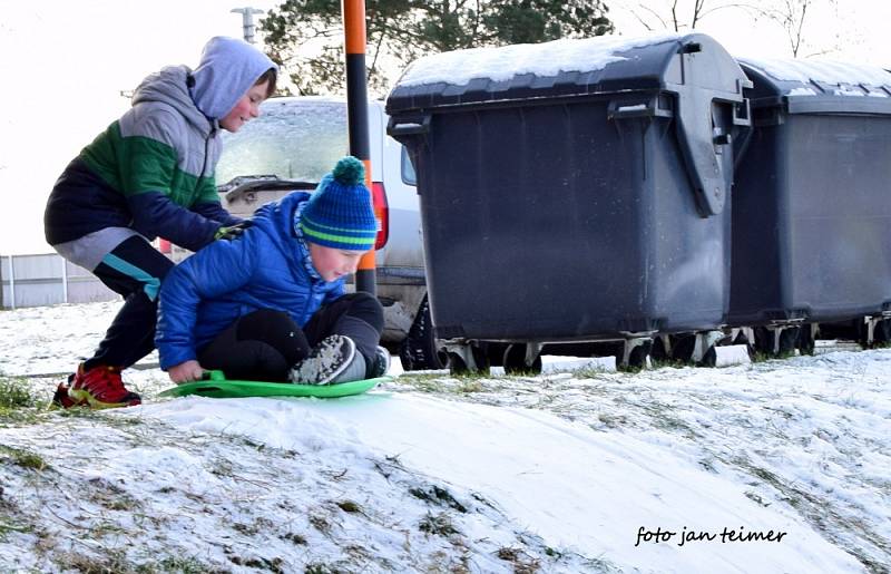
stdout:
[[[647,11],[640,3],[607,2],[619,33],[645,31],[640,20]],[[835,10],[823,8],[828,3],[814,0],[809,12],[813,19],[805,22],[811,43],[800,56],[826,49],[833,50],[826,58],[891,67],[887,41],[891,2],[838,0]],[[14,213],[0,225],[0,254],[51,251],[43,242],[42,213],[52,183],[84,145],[127,109],[129,100],[121,90],[135,88],[163,66],[195,66],[212,36],[239,37],[242,17],[231,13],[232,8],[268,10],[276,4],[270,0],[0,0],[4,86],[0,90],[0,198],[6,213]],[[670,2],[646,4],[665,13]],[[657,26],[652,19],[650,25]],[[709,14],[698,31],[736,55],[791,53],[775,22],[752,21],[733,9]]]

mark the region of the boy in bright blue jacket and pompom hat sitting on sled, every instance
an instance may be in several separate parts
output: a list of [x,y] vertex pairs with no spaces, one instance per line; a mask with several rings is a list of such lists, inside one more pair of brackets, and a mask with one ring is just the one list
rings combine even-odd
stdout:
[[344,157],[315,192],[264,205],[236,239],[177,265],[160,291],[155,342],[176,383],[205,369],[229,379],[331,385],[383,374],[383,309],[346,294],[374,246],[364,167]]

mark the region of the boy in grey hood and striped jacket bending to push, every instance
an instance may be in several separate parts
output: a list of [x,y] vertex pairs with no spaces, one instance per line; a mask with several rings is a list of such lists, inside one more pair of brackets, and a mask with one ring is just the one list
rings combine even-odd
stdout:
[[65,168],[47,202],[47,242],[125,298],[96,353],[59,385],[63,407],[139,405],[120,371],[154,349],[157,295],[173,263],[156,236],[197,251],[237,233],[219,203],[219,130],[237,132],[275,90],[277,68],[255,47],[213,38],[195,70],[148,76],[133,107]]

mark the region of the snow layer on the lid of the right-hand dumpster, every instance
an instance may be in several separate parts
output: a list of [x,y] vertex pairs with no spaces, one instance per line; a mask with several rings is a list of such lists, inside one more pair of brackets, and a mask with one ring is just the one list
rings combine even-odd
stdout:
[[[891,96],[891,72],[875,66],[829,60],[737,58],[790,96]],[[782,85],[781,85],[782,84]]]

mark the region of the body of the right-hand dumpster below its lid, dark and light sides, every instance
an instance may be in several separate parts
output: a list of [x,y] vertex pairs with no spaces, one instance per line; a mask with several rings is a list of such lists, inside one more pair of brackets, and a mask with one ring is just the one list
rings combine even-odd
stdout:
[[731,322],[834,321],[891,303],[891,117],[761,127],[734,194]]

